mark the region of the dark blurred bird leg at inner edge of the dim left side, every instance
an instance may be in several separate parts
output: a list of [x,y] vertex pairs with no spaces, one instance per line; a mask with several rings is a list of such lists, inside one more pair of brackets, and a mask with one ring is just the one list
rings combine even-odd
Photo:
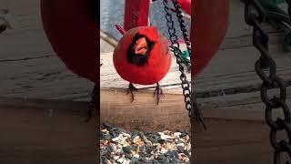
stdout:
[[88,108],[88,114],[87,114],[87,119],[85,120],[85,122],[88,122],[94,115],[94,112],[97,112],[98,110],[98,88],[97,85],[94,86],[93,91],[92,91],[92,95],[91,95],[91,102]]

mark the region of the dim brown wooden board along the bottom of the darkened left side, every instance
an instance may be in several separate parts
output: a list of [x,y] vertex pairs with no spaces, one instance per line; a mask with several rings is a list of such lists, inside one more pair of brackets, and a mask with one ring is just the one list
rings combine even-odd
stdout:
[[1,163],[96,163],[98,120],[84,122],[87,103],[23,102],[0,100]]

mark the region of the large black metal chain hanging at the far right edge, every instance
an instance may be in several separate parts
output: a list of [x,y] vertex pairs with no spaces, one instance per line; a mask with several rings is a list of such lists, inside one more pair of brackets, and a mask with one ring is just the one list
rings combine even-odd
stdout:
[[[290,11],[290,0],[286,0],[289,5]],[[256,74],[263,80],[261,86],[261,97],[262,101],[266,104],[265,117],[266,123],[271,128],[270,131],[270,142],[272,147],[275,149],[274,163],[281,163],[281,154],[286,152],[291,159],[291,126],[290,126],[290,110],[286,104],[286,83],[283,79],[276,75],[276,62],[270,56],[268,52],[268,35],[262,28],[261,24],[265,20],[265,11],[262,5],[257,0],[247,0],[245,5],[245,20],[246,24],[253,26],[253,44],[260,52],[261,56],[256,61],[255,69]],[[268,68],[269,74],[266,74],[264,68]],[[269,97],[267,91],[270,89],[279,88],[279,97]],[[283,118],[277,118],[273,120],[274,109],[281,108],[284,113]],[[277,141],[277,131],[285,130],[288,140],[280,139]],[[286,163],[291,163],[291,160]]]

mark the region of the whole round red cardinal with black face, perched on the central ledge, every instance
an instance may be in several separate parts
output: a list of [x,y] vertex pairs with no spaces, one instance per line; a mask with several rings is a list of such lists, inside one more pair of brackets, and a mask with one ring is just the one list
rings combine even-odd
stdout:
[[156,26],[139,26],[125,32],[115,47],[113,62],[120,77],[129,82],[128,92],[135,99],[133,84],[156,84],[157,104],[163,90],[159,81],[171,67],[172,56],[166,39]]

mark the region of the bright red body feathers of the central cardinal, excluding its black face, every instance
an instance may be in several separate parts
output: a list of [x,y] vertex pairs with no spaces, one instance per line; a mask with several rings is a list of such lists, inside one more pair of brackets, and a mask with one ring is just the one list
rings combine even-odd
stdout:
[[[133,42],[136,33],[145,35],[155,43],[147,63],[143,66],[136,66],[127,61],[127,49]],[[166,76],[171,67],[172,56],[165,37],[158,32],[156,26],[139,26],[125,32],[115,47],[113,61],[117,73],[126,81],[140,85],[152,85]]]

